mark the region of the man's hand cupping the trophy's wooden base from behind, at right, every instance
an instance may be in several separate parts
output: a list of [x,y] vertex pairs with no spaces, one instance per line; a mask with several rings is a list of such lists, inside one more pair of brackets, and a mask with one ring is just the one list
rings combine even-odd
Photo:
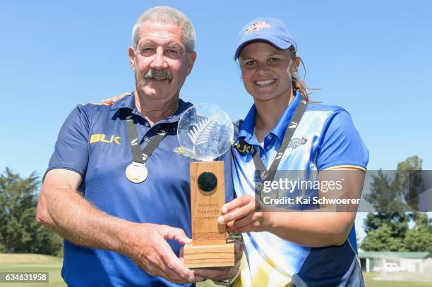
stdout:
[[[224,281],[231,279],[236,275],[237,270],[240,268],[241,256],[243,255],[244,244],[234,240],[235,250],[235,265],[232,267],[209,267],[209,268],[195,268],[192,269],[196,278],[201,277],[200,281],[204,279],[211,279],[214,281]],[[183,248],[180,250],[180,257],[183,259]],[[197,281],[198,282],[198,281]]]

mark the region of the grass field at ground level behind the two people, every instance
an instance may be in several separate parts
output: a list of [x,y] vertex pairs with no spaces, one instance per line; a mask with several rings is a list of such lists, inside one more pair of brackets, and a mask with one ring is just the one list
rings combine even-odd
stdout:
[[[0,272],[49,272],[49,283],[0,283],[3,286],[49,286],[64,287],[63,279],[60,275],[61,259],[47,255],[36,254],[0,254]],[[373,277],[377,274],[364,274],[366,286],[371,287],[425,287],[432,286],[432,282],[406,282],[406,281],[376,281]],[[199,287],[215,286],[211,281],[199,283]]]

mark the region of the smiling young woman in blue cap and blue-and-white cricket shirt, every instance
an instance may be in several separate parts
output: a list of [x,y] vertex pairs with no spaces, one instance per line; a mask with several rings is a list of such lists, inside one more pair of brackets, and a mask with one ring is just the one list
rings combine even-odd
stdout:
[[[280,207],[268,212],[263,202],[256,205],[265,199],[263,190],[256,190],[257,181],[265,186],[265,181],[287,179],[276,171],[307,171],[309,179],[316,172],[322,187],[343,178],[344,198],[359,197],[368,151],[351,116],[339,106],[309,101],[297,75],[296,44],[278,19],[257,18],[246,24],[234,59],[254,102],[233,149],[237,197],[224,204],[218,219],[243,233],[246,260],[237,286],[363,286],[356,208],[322,212],[328,205],[294,202],[296,212]],[[293,198],[299,197],[296,192]],[[323,188],[317,193],[321,199],[330,196]]]

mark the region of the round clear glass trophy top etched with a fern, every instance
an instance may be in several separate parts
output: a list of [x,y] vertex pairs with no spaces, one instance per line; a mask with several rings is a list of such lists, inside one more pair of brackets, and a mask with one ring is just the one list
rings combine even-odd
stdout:
[[215,104],[196,104],[184,111],[177,128],[184,154],[200,161],[212,161],[227,152],[234,138],[228,114]]

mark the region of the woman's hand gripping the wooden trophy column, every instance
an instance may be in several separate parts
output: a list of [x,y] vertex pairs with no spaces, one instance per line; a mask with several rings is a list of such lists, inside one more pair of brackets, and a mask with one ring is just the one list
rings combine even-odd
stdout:
[[222,206],[219,224],[227,224],[233,232],[266,231],[268,212],[262,212],[260,204],[251,195],[243,195]]

